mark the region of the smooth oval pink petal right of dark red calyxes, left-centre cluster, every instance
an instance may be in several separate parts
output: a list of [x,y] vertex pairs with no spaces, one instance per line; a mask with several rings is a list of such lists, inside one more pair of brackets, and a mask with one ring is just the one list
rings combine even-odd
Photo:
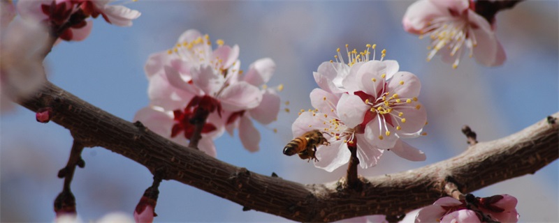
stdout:
[[238,82],[226,87],[219,95],[218,100],[222,102],[224,110],[237,112],[257,107],[262,101],[262,93],[252,84]]

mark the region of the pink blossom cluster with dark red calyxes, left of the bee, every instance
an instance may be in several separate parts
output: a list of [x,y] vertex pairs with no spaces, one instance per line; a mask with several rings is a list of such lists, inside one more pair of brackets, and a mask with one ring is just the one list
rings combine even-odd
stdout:
[[205,120],[198,148],[212,156],[213,140],[238,128],[242,145],[258,151],[260,134],[251,118],[266,125],[279,113],[279,96],[266,86],[275,63],[259,59],[243,73],[238,45],[216,42],[212,49],[208,35],[191,29],[182,33],[173,49],[152,54],[145,66],[150,105],[134,120],[185,146],[196,123]]

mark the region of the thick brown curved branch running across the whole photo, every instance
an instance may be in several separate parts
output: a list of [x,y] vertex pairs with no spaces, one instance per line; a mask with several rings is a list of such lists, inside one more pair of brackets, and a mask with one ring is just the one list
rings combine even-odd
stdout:
[[[53,100],[59,98],[59,100]],[[177,180],[239,203],[241,207],[298,222],[328,222],[362,215],[398,216],[427,206],[443,194],[447,178],[469,193],[502,180],[534,174],[559,157],[559,126],[539,121],[509,137],[480,142],[449,160],[418,169],[361,178],[362,190],[338,182],[302,185],[235,167],[117,118],[47,82],[20,104],[32,111],[52,105],[52,121],[84,146],[101,146],[134,160],[166,180]],[[553,114],[559,116],[559,113]]]

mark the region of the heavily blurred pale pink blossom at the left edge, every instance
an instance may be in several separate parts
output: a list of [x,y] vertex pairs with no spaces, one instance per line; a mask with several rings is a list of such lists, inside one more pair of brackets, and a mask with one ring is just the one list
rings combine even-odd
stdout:
[[[13,11],[2,1],[2,19],[13,18]],[[4,14],[8,13],[9,16]],[[38,22],[17,18],[9,24],[2,21],[0,31],[0,112],[13,107],[45,82],[43,56],[47,51],[48,33]]]

